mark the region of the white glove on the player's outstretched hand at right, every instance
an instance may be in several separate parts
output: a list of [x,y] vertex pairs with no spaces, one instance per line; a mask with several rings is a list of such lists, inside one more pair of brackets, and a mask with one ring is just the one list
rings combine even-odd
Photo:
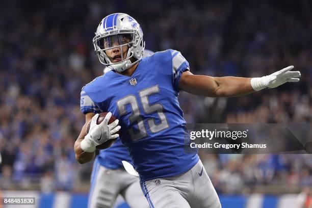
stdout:
[[301,76],[300,71],[290,71],[293,68],[294,66],[288,66],[270,75],[252,78],[250,81],[251,87],[255,91],[259,91],[264,88],[278,87],[285,82],[299,82],[297,77]]

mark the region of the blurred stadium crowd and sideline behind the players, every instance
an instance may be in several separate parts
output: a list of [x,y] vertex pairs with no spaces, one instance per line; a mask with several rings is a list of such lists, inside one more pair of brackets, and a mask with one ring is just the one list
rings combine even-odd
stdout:
[[[311,5],[308,0],[1,1],[1,194],[36,195],[40,207],[86,203],[92,163],[78,164],[73,144],[84,123],[81,88],[103,69],[92,38],[110,13],[132,15],[141,23],[147,49],[180,50],[196,74],[254,77],[288,65],[301,71],[300,83],[240,98],[182,92],[187,122],[309,123]],[[309,154],[200,157],[223,207],[311,204]]]

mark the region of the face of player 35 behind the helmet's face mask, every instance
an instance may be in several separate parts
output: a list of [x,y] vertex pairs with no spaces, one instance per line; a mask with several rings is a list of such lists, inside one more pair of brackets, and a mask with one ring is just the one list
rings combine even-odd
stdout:
[[[121,34],[115,36],[109,36],[104,38],[103,46],[104,48],[110,48],[105,50],[106,55],[109,57],[112,63],[117,63],[125,59],[128,46],[126,45],[131,41],[131,35]],[[122,45],[122,46],[120,46]],[[116,47],[114,47],[116,46]],[[113,47],[113,48],[112,48]],[[122,58],[121,58],[122,54]]]

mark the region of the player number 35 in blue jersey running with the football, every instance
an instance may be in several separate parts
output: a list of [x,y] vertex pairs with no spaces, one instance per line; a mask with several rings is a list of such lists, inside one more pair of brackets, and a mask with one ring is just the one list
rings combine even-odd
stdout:
[[[242,96],[298,82],[300,76],[299,71],[290,71],[293,66],[252,79],[194,75],[187,60],[172,49],[142,59],[142,29],[123,13],[101,20],[93,44],[99,61],[113,70],[86,85],[83,94],[94,108],[120,120],[122,143],[128,147],[150,207],[156,208],[221,207],[197,152],[184,151],[189,135],[177,100],[180,90],[210,97]],[[94,130],[88,135],[83,131],[75,142],[79,161],[90,161],[95,146],[115,138],[120,128],[117,121],[97,125],[97,117],[86,115]]]

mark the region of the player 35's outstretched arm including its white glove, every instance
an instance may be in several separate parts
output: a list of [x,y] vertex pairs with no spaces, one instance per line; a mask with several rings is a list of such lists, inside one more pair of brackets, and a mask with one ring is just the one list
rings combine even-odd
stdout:
[[265,88],[275,88],[286,82],[299,82],[300,71],[290,71],[288,66],[270,75],[256,78],[245,77],[212,77],[194,75],[185,71],[180,77],[179,88],[186,92],[209,97],[236,97]]

